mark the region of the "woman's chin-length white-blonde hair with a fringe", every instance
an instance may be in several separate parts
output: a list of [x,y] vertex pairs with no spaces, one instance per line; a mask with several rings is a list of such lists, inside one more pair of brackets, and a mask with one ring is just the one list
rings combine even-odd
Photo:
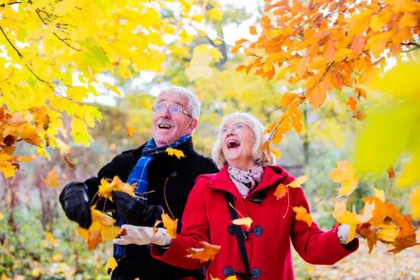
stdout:
[[[216,140],[211,150],[211,158],[218,165],[219,169],[222,169],[227,164],[226,158],[222,151],[222,137],[220,137],[220,130],[224,127],[227,122],[242,122],[247,124],[254,132],[254,143],[251,149],[251,156],[255,164],[261,166],[272,165],[274,163],[274,154],[270,152],[269,145],[263,145],[266,142],[266,136],[263,134],[264,126],[259,120],[248,113],[232,113],[226,115],[222,119],[222,124],[216,129]],[[266,143],[268,144],[268,143]]]

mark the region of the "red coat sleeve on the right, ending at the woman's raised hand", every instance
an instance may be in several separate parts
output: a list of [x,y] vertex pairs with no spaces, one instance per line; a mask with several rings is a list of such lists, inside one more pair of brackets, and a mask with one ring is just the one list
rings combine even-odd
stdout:
[[[293,193],[292,207],[302,206],[310,213],[303,190],[296,188]],[[359,247],[357,238],[345,246],[342,245],[338,239],[337,227],[330,231],[321,231],[316,223],[312,222],[312,226],[308,226],[306,222],[296,220],[296,213],[292,212],[292,215],[290,238],[302,259],[310,264],[335,264]]]

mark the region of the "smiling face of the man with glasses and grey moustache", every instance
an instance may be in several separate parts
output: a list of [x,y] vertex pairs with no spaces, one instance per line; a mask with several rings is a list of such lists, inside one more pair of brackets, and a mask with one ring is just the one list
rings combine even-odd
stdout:
[[154,112],[152,117],[152,136],[156,147],[170,145],[174,141],[189,135],[197,126],[197,120],[185,115],[185,113],[170,113],[168,106],[179,106],[188,112],[187,97],[176,92],[163,93],[156,100],[155,104],[166,106],[163,112]]

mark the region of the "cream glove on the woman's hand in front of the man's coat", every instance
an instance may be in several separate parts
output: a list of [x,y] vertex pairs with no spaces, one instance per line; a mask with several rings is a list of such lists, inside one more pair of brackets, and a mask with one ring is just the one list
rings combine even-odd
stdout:
[[166,233],[166,229],[159,228],[153,234],[153,228],[150,226],[132,226],[131,224],[123,224],[121,229],[126,229],[127,234],[113,240],[113,244],[127,245],[147,245],[150,243],[167,246],[171,243],[171,237]]

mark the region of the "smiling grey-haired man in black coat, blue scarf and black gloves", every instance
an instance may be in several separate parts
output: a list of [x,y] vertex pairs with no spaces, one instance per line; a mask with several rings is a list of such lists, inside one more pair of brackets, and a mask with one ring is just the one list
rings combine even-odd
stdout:
[[[161,91],[152,106],[152,139],[135,150],[122,152],[106,164],[95,177],[69,183],[60,194],[60,202],[67,217],[84,228],[91,224],[89,207],[96,201],[100,180],[119,176],[129,184],[137,183],[136,198],[121,191],[113,193],[113,202],[107,209],[115,210],[119,225],[153,226],[161,220],[162,209],[181,218],[194,180],[200,174],[218,172],[211,159],[198,154],[191,141],[200,115],[200,103],[194,93],[178,86]],[[165,152],[166,148],[183,151],[177,159]],[[139,199],[139,198],[147,198]],[[95,201],[92,201],[95,200]],[[101,205],[102,204],[102,205]],[[180,231],[180,223],[178,224]],[[196,270],[184,270],[157,261],[148,246],[115,245],[117,268],[111,279],[202,279]]]

